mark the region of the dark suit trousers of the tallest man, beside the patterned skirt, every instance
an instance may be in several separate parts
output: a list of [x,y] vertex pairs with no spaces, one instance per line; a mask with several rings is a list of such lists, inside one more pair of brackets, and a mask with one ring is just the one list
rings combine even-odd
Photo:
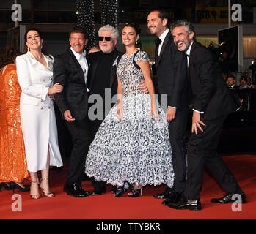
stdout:
[[185,131],[189,107],[178,108],[175,119],[169,122],[169,141],[172,147],[172,164],[175,173],[174,189],[183,193],[186,186]]

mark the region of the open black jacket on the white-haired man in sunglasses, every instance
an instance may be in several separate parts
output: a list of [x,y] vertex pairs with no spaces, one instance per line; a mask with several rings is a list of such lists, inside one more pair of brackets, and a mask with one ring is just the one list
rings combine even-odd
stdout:
[[[114,60],[117,58],[117,56],[122,56],[122,52],[118,51],[118,50],[114,50],[114,56],[113,56],[113,60],[112,60],[112,64],[114,63]],[[88,78],[87,78],[87,87],[90,90],[90,94],[94,94],[93,91],[93,82],[95,79],[95,72],[97,69],[100,69],[100,67],[98,67],[98,63],[100,61],[100,57],[102,56],[103,52],[99,51],[99,52],[95,52],[95,53],[90,53],[88,56],[88,62],[89,62],[89,74],[88,74]],[[117,94],[117,67],[116,66],[112,66],[111,68],[111,74],[106,74],[106,76],[108,76],[109,80],[110,80],[110,86],[109,87],[105,87],[105,88],[111,88],[111,98]],[[104,77],[104,79],[106,79],[106,77]],[[111,104],[114,105],[114,104]]]

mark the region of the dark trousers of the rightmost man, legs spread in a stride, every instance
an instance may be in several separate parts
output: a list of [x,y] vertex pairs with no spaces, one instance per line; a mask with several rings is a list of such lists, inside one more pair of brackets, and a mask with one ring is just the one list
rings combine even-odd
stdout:
[[192,133],[188,145],[188,172],[185,195],[189,200],[200,199],[202,186],[202,174],[204,165],[216,176],[222,189],[226,192],[241,194],[241,188],[235,181],[235,177],[217,153],[219,137],[226,116],[213,120],[201,119],[206,127],[203,132],[197,129],[197,135]]

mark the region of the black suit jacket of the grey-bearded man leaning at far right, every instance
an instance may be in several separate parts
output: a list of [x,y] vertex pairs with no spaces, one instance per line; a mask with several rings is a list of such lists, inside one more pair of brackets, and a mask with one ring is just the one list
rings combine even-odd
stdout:
[[194,94],[194,109],[204,112],[205,119],[218,118],[235,109],[219,62],[199,42],[193,42],[191,46],[189,80]]

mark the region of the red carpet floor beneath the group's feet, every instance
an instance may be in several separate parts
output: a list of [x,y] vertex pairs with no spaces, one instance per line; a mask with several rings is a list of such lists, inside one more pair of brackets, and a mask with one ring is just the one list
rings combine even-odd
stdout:
[[[115,198],[109,192],[111,186],[100,196],[67,196],[62,191],[67,174],[65,167],[50,172],[54,198],[32,200],[29,192],[15,190],[22,197],[22,211],[12,211],[15,202],[12,191],[1,191],[0,219],[256,219],[256,155],[224,156],[224,161],[246,193],[248,203],[242,205],[242,211],[232,211],[230,204],[210,203],[212,197],[221,197],[224,192],[208,173],[204,173],[203,178],[202,211],[176,211],[153,198],[153,194],[164,191],[164,186],[146,186],[143,196],[136,198]],[[89,181],[84,181],[83,187],[92,191]]]

